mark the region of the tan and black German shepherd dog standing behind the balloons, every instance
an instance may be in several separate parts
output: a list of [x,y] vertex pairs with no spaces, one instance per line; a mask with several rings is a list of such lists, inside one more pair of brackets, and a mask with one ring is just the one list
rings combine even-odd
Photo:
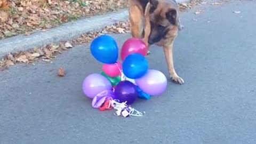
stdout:
[[148,47],[163,46],[167,67],[173,81],[183,84],[173,64],[173,42],[183,29],[179,20],[179,5],[175,0],[129,0],[131,34],[144,38]]

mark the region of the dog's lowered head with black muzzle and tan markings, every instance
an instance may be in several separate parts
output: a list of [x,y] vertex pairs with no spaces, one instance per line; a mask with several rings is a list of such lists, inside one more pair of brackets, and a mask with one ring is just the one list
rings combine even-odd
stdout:
[[149,0],[149,3],[151,31],[148,43],[154,44],[172,37],[173,30],[178,30],[179,7],[175,0]]

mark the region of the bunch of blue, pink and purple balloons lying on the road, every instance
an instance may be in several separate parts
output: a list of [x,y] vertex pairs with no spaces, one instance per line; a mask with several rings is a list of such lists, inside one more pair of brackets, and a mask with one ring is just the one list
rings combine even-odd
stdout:
[[122,62],[118,61],[118,46],[111,36],[95,38],[90,51],[103,63],[101,74],[91,74],[83,81],[83,92],[93,99],[93,107],[100,108],[110,99],[131,105],[138,97],[149,99],[150,95],[165,91],[167,79],[161,71],[148,68],[147,46],[141,39],[129,38],[124,42]]

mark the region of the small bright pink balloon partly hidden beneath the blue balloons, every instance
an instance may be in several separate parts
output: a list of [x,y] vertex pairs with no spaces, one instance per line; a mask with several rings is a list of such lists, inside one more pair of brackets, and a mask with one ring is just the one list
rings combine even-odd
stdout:
[[102,70],[110,77],[121,76],[121,71],[118,67],[122,70],[122,64],[119,61],[117,61],[117,64],[104,64]]

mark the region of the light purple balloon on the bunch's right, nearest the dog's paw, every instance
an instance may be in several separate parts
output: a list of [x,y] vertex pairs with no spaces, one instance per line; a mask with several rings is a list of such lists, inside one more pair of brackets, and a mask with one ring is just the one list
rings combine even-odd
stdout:
[[160,95],[166,90],[167,78],[158,70],[149,69],[141,78],[135,79],[140,89],[149,95]]

